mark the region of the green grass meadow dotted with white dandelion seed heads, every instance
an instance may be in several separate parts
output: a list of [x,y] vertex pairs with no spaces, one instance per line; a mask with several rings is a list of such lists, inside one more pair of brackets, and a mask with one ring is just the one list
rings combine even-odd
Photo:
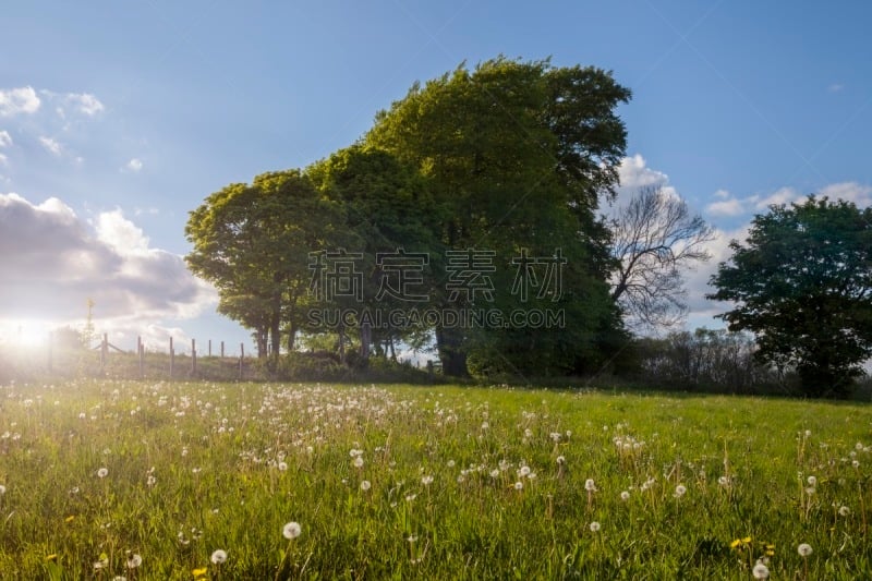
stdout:
[[847,403],[7,385],[0,578],[872,579],[870,446]]

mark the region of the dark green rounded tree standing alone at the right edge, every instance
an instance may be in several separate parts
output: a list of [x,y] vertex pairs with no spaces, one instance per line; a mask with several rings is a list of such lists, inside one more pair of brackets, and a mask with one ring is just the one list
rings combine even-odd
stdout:
[[792,367],[810,396],[845,396],[872,353],[872,209],[809,196],[756,216],[730,243],[710,299],[732,301],[730,330],[760,361]]

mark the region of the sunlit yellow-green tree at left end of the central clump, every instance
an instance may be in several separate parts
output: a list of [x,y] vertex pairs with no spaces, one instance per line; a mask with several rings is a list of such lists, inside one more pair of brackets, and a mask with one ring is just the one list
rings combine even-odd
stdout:
[[342,207],[299,170],[230,184],[193,210],[185,235],[192,271],[219,292],[218,311],[252,329],[262,356],[293,349],[312,306],[310,253],[347,243]]

